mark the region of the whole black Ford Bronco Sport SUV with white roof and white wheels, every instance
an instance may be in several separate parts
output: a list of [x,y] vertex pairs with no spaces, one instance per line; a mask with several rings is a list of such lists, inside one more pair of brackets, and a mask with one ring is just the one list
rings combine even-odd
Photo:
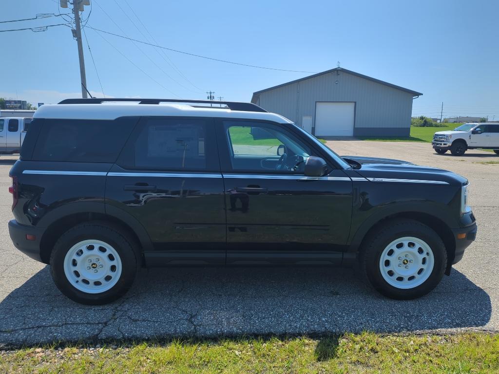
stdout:
[[411,299],[475,239],[459,175],[339,157],[250,103],[132,101],[43,105],[10,172],[10,237],[72,300],[115,300],[140,266],[284,264],[357,264]]

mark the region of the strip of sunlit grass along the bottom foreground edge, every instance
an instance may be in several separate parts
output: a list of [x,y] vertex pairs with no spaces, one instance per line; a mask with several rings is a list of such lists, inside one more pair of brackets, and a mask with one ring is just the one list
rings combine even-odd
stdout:
[[[87,346],[88,347],[88,346]],[[499,336],[381,336],[138,343],[0,352],[0,373],[499,373]]]

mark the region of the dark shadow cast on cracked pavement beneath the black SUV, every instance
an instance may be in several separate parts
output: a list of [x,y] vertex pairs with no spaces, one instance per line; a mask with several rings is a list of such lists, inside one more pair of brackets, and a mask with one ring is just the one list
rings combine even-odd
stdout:
[[47,266],[0,303],[0,345],[480,328],[491,314],[489,295],[454,269],[410,301],[380,296],[349,269],[144,269],[124,298],[84,306],[61,295]]

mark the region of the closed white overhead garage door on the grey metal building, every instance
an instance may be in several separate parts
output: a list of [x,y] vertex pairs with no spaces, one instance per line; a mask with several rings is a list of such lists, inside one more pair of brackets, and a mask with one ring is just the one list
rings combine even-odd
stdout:
[[355,103],[317,103],[315,136],[353,136],[354,118]]

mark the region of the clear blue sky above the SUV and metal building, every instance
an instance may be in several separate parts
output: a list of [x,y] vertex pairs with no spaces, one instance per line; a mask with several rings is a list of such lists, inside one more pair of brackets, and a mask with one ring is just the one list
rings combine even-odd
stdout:
[[[1,0],[0,21],[69,11],[57,3]],[[444,117],[499,119],[499,1],[92,0],[83,18],[89,16],[88,26],[152,40],[128,4],[157,43],[169,48],[311,72],[340,61],[346,69],[423,92],[413,114],[437,117],[443,101]],[[50,17],[0,23],[0,30],[61,22]],[[85,32],[106,96],[203,99],[212,90],[226,100],[249,101],[254,91],[309,75],[171,51],[165,57],[151,46],[137,43],[139,49],[129,40]],[[76,41],[68,27],[0,32],[0,46],[0,96],[36,104],[81,95]],[[83,47],[88,88],[101,97],[85,39]]]

